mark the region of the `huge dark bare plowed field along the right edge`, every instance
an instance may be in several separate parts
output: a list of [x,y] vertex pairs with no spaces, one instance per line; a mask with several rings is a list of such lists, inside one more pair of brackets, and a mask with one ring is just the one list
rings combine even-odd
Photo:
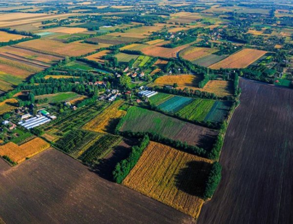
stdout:
[[222,181],[198,224],[293,223],[293,90],[240,80]]

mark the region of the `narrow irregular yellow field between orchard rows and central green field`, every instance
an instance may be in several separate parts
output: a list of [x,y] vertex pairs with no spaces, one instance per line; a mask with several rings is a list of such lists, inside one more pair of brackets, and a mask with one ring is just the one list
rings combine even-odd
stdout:
[[87,131],[97,131],[106,133],[108,126],[111,122],[117,118],[121,118],[126,114],[126,111],[119,110],[119,107],[123,104],[122,100],[114,101],[109,107],[101,112],[94,119],[84,125],[83,129]]

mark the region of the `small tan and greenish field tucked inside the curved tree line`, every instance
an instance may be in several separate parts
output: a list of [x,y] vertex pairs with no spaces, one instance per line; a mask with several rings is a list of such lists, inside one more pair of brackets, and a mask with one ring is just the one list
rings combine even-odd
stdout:
[[199,59],[204,56],[211,55],[217,52],[217,49],[205,48],[205,47],[188,47],[182,50],[179,55],[184,59],[194,62],[194,60]]

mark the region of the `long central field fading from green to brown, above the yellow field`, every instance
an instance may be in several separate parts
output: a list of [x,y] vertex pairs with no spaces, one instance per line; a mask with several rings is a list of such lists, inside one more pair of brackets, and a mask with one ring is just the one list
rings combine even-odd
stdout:
[[167,138],[186,141],[188,145],[204,148],[211,147],[217,135],[217,131],[139,107],[128,109],[120,131],[154,132]]

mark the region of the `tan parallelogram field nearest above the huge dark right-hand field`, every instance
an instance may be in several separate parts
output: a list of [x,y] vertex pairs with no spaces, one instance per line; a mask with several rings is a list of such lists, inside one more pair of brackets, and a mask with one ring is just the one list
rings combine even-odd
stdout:
[[228,68],[246,68],[251,63],[256,61],[261,56],[265,55],[266,51],[245,48],[211,66],[211,69],[228,69]]

